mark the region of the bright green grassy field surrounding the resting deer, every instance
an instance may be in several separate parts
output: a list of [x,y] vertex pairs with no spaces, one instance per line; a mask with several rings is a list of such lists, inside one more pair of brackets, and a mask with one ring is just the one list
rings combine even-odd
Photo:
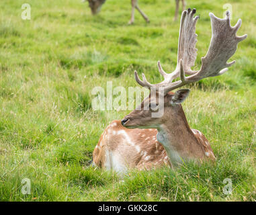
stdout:
[[[31,20],[23,20],[29,3]],[[136,11],[128,26],[130,0],[108,0],[93,17],[80,0],[0,1],[0,200],[2,201],[255,201],[256,200],[256,2],[187,0],[196,7],[198,59],[206,54],[212,11],[222,17],[232,5],[232,25],[248,34],[221,77],[190,85],[183,109],[191,128],[204,132],[216,165],[188,163],[172,171],[115,173],[87,168],[106,126],[130,111],[91,108],[91,89],[137,86],[134,69],[148,81],[175,69],[179,22],[174,0],[140,0],[151,19]],[[180,11],[181,12],[181,11]],[[180,16],[180,14],[179,14]],[[22,194],[22,179],[31,194]],[[226,195],[223,180],[232,180]]]

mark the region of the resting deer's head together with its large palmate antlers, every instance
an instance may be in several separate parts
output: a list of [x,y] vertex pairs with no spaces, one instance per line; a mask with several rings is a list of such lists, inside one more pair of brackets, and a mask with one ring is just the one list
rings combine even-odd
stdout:
[[[234,64],[235,61],[228,63],[227,60],[236,52],[237,44],[247,38],[246,34],[244,36],[236,36],[241,26],[241,19],[232,27],[230,26],[229,11],[226,12],[225,19],[220,19],[210,13],[212,23],[210,46],[206,56],[202,57],[200,70],[191,70],[197,55],[196,22],[199,16],[194,17],[195,13],[196,9],[187,9],[181,15],[177,67],[173,73],[165,73],[160,62],[158,62],[159,72],[163,75],[164,81],[158,84],[151,84],[146,80],[143,73],[141,80],[138,77],[138,73],[134,72],[137,83],[155,93],[151,93],[150,96],[146,97],[139,108],[137,107],[136,110],[122,120],[123,126],[127,128],[159,128],[165,124],[179,126],[180,122],[186,122],[180,103],[189,94],[189,89],[180,89],[176,93],[169,93],[169,91],[207,77],[222,75],[228,70],[228,67]],[[173,82],[177,77],[180,77],[180,80]],[[162,101],[161,98],[163,98]],[[159,108],[163,109],[163,116],[153,118],[152,114],[156,110],[159,111]]]

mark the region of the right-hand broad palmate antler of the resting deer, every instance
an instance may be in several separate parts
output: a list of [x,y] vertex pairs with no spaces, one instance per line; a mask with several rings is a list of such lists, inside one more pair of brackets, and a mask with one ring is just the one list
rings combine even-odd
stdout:
[[204,79],[206,77],[214,77],[222,75],[228,71],[228,67],[234,64],[227,62],[227,60],[236,52],[237,44],[247,38],[247,34],[243,36],[236,36],[237,30],[241,26],[241,19],[237,24],[232,27],[230,26],[230,12],[226,12],[226,19],[220,19],[213,13],[210,13],[212,22],[212,39],[206,56],[202,57],[202,66],[199,71],[196,71],[194,75],[185,77],[184,60],[180,61],[180,81],[171,83],[168,87],[165,87],[165,93],[182,87],[187,83],[193,83]]

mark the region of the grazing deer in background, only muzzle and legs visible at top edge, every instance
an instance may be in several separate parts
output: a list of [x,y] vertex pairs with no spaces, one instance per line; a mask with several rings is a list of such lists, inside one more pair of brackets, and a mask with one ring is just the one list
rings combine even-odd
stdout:
[[[84,0],[83,2],[85,2],[85,1],[89,2],[89,7],[91,7],[91,13],[93,13],[93,15],[95,15],[95,14],[99,13],[103,3],[105,3],[106,0]],[[174,20],[177,20],[177,16],[178,16],[178,13],[179,13],[179,1],[181,1],[181,0],[175,0],[175,1],[176,1],[176,11],[175,11]],[[135,11],[135,9],[137,9],[140,12],[140,14],[145,19],[146,22],[149,22],[149,19],[146,16],[146,14],[142,12],[140,7],[138,7],[138,0],[131,0],[131,2],[132,2],[132,15],[131,15],[131,18],[130,18],[130,21],[128,22],[128,24],[133,24],[134,23],[134,11]],[[183,10],[184,10],[185,9],[185,0],[182,0],[182,4],[183,4]]]

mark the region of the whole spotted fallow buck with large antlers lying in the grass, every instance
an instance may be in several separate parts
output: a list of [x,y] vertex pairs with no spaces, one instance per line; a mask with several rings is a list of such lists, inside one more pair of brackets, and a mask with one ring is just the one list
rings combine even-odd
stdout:
[[[227,60],[236,52],[237,44],[247,35],[236,36],[241,26],[241,19],[234,27],[230,26],[230,13],[226,19],[220,19],[210,13],[212,22],[212,39],[206,56],[202,58],[199,71],[191,70],[196,60],[197,35],[194,17],[196,9],[187,9],[181,16],[177,67],[173,73],[165,73],[160,62],[159,72],[164,81],[151,84],[142,74],[142,80],[135,71],[135,79],[139,85],[156,91],[146,97],[140,107],[128,114],[121,122],[115,120],[106,128],[93,151],[93,165],[126,171],[128,168],[150,169],[171,163],[175,167],[185,161],[215,161],[216,157],[210,143],[196,129],[189,128],[181,107],[181,102],[189,94],[189,89],[174,89],[194,83],[207,77],[222,75],[235,61]],[[185,76],[189,75],[189,76]],[[180,77],[179,81],[174,81]],[[159,103],[163,97],[163,103]],[[145,107],[148,107],[146,110]],[[152,114],[163,108],[161,118],[153,118]],[[129,129],[134,128],[134,129]]]

